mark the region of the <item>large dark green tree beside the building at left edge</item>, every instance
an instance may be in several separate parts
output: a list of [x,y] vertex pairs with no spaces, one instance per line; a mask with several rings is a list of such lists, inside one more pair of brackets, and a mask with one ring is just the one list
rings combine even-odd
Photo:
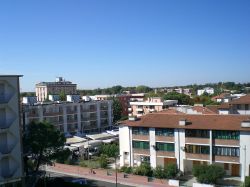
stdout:
[[65,137],[53,124],[48,122],[32,122],[28,125],[23,137],[24,152],[32,156],[35,171],[45,163],[51,163],[64,152]]

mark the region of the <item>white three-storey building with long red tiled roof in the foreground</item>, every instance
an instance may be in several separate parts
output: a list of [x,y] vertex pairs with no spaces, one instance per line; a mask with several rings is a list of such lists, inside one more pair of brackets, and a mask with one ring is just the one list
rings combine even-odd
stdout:
[[217,163],[229,176],[249,176],[250,116],[148,114],[119,127],[120,166],[176,163],[189,173]]

